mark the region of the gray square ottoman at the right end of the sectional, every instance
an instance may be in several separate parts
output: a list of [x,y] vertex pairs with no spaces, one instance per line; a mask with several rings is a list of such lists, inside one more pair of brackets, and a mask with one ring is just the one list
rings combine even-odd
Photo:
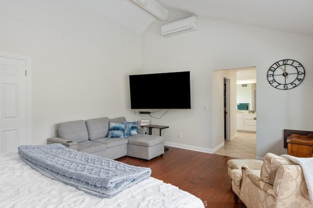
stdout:
[[[147,137],[148,136],[148,137]],[[128,139],[127,155],[150,160],[164,154],[164,137],[147,134],[132,135]]]

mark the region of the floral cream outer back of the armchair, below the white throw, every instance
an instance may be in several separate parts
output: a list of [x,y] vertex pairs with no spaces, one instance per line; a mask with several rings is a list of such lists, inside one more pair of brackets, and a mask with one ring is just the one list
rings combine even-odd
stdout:
[[298,203],[301,207],[312,206],[303,171],[299,165],[281,165],[274,180],[274,193],[278,206],[292,207]]

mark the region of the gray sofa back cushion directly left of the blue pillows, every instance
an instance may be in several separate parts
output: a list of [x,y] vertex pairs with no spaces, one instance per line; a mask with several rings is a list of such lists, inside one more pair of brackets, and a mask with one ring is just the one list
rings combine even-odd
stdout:
[[109,118],[94,118],[86,121],[89,140],[106,137],[109,132]]

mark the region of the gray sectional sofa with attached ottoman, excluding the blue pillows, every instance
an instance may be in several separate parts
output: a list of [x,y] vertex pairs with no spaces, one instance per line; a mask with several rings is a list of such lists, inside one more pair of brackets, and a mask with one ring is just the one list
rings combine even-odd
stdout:
[[108,138],[109,124],[126,122],[125,117],[69,121],[57,124],[57,136],[47,144],[61,143],[68,148],[100,157],[116,159],[132,156],[150,160],[164,154],[164,137],[134,134],[126,138]]

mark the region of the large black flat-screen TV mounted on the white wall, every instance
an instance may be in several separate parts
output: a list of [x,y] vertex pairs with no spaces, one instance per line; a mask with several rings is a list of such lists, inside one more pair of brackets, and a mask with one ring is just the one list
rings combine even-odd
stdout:
[[191,109],[190,72],[130,75],[132,109]]

